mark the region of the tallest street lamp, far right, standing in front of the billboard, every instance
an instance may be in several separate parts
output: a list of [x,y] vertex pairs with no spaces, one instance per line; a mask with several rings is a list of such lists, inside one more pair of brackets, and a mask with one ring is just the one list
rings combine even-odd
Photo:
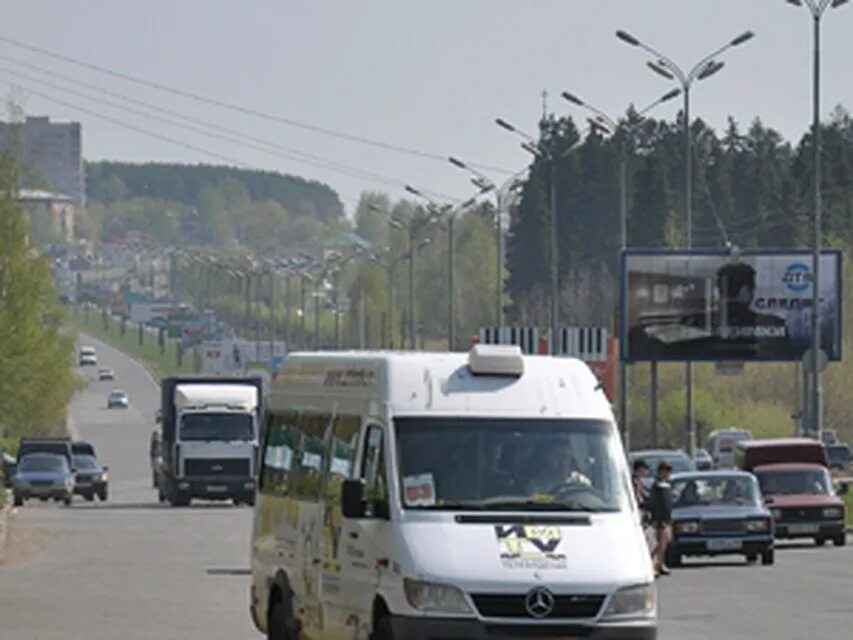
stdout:
[[[814,153],[814,244],[813,244],[813,269],[812,277],[812,407],[811,424],[808,426],[817,431],[820,440],[823,439],[823,388],[820,380],[820,348],[821,348],[821,314],[820,314],[820,254],[823,242],[821,226],[823,217],[823,194],[821,191],[821,138],[820,130],[820,25],[823,14],[829,8],[838,8],[847,4],[847,0],[788,0],[789,4],[801,7],[805,5],[812,14],[814,33],[814,59],[813,59],[813,84],[812,84],[812,151]],[[808,407],[804,407],[804,413],[809,415]]]

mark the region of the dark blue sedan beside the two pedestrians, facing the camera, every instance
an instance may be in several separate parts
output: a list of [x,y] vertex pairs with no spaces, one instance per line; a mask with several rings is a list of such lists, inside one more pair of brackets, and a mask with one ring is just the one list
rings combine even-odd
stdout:
[[758,482],[742,471],[705,471],[672,478],[672,543],[668,562],[684,556],[743,555],[773,564],[773,517]]

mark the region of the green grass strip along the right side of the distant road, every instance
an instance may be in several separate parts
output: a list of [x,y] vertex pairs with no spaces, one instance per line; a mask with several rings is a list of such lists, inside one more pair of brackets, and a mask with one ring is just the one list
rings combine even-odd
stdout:
[[143,343],[139,344],[139,330],[136,325],[127,323],[126,331],[122,334],[120,322],[111,318],[107,327],[104,328],[100,313],[90,311],[87,314],[83,309],[78,309],[76,316],[73,313],[71,314],[71,324],[78,331],[102,340],[129,356],[141,360],[160,377],[196,372],[194,351],[186,351],[182,365],[178,366],[176,340],[167,340],[165,349],[161,352],[156,335],[144,332]]

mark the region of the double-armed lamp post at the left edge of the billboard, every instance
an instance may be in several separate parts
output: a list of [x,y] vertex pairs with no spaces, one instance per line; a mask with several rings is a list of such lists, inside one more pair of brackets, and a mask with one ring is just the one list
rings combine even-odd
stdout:
[[[639,116],[644,116],[655,107],[668,102],[681,95],[681,89],[673,89],[662,95],[660,98],[646,106],[638,112]],[[615,133],[618,129],[618,124],[614,118],[611,118],[604,111],[584,102],[579,97],[568,91],[563,92],[563,98],[574,105],[577,105],[593,114],[593,118],[589,119],[589,124],[593,129],[597,129],[603,133]],[[619,149],[619,238],[620,252],[624,252],[628,248],[628,135],[632,130],[625,132],[625,137]],[[625,347],[620,340],[619,342],[619,417],[622,422],[622,442],[626,449],[630,449],[631,432],[628,428],[628,365],[625,362]]]

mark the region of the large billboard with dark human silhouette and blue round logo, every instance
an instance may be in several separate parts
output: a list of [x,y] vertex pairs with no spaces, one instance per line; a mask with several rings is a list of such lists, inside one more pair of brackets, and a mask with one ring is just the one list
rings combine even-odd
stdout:
[[[821,257],[821,348],[841,359],[841,253]],[[805,251],[626,251],[622,359],[799,361],[811,348]]]

